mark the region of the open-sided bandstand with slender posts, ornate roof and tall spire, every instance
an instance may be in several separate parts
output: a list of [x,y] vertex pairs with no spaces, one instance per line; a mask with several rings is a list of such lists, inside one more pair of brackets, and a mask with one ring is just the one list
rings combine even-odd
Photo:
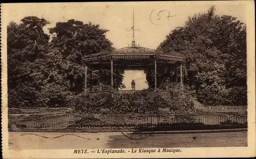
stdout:
[[[167,52],[163,50],[150,49],[136,45],[134,36],[134,12],[133,12],[133,41],[131,46],[115,49],[113,51],[101,51],[97,54],[91,54],[84,58],[85,64],[85,79],[84,92],[92,92],[92,68],[110,68],[111,69],[111,91],[118,91],[113,88],[113,68],[128,70],[144,70],[147,68],[155,69],[155,89],[157,89],[157,67],[162,66],[178,67],[180,66],[180,89],[183,88],[183,64],[185,57],[175,52]],[[87,89],[87,69],[90,68],[90,91]],[[177,75],[177,74],[176,74]],[[118,91],[121,92],[121,91]],[[125,91],[122,91],[125,92]],[[134,91],[128,91],[127,93]]]

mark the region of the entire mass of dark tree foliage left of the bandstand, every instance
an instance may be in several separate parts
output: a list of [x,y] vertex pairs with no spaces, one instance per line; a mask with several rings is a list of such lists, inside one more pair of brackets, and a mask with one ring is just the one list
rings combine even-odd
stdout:
[[[57,22],[49,29],[51,38],[42,29],[47,24],[44,18],[29,16],[7,27],[9,107],[74,104],[71,99],[84,88],[84,56],[113,49],[105,36],[108,31],[98,24],[83,24],[74,19]],[[118,70],[114,74],[115,87],[122,87],[122,73],[123,70]],[[90,69],[88,84],[89,75]],[[93,68],[92,77],[92,90],[98,90],[94,87],[98,85],[102,90],[109,89],[110,68]]]

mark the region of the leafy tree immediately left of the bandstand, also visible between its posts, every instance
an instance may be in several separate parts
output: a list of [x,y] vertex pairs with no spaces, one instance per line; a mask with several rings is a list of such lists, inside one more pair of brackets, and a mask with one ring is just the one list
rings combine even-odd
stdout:
[[[50,33],[54,36],[50,43],[51,48],[61,59],[55,69],[67,81],[66,87],[69,91],[76,94],[83,91],[84,56],[114,49],[105,36],[106,32],[108,30],[100,29],[98,24],[91,22],[83,24],[82,21],[74,19],[57,22],[56,26],[50,29]],[[89,84],[90,68],[87,72]],[[115,76],[121,85],[123,71],[119,72]],[[92,85],[110,85],[110,80],[110,68],[92,68]]]

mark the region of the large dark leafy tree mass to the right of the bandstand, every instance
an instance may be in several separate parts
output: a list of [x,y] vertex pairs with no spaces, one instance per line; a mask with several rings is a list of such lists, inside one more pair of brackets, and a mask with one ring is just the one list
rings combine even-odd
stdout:
[[[158,49],[185,55],[184,82],[189,90],[196,91],[201,102],[247,104],[246,26],[237,18],[216,15],[212,6],[205,13],[188,17],[185,25],[170,32]],[[173,81],[165,72],[174,71],[160,71],[162,81]],[[152,79],[152,74],[147,73],[147,78]]]

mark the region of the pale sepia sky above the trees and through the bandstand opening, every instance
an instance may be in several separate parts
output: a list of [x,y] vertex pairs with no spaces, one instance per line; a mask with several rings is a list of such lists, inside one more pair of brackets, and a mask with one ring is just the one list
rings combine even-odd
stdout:
[[[2,4],[6,9],[3,17],[19,22],[25,16],[38,16],[50,21],[44,30],[55,26],[56,22],[75,19],[88,23],[96,23],[100,28],[110,32],[106,37],[121,48],[131,44],[133,25],[133,8],[135,11],[135,41],[140,46],[157,48],[166,35],[177,26],[183,26],[188,16],[207,11],[216,5],[216,14],[231,15],[242,22],[245,21],[245,7],[236,1],[229,2],[117,2],[117,3],[34,3],[34,4]],[[162,12],[160,12],[162,11]],[[160,13],[159,13],[160,12]],[[159,13],[159,14],[158,14]],[[157,16],[157,14],[160,16]],[[167,19],[167,16],[169,20]],[[160,18],[160,19],[158,19]],[[155,23],[155,24],[153,24]],[[157,25],[156,25],[157,24]],[[136,89],[147,87],[143,71],[125,71],[123,83],[130,87],[131,80],[136,80]],[[127,88],[130,89],[130,88]]]

